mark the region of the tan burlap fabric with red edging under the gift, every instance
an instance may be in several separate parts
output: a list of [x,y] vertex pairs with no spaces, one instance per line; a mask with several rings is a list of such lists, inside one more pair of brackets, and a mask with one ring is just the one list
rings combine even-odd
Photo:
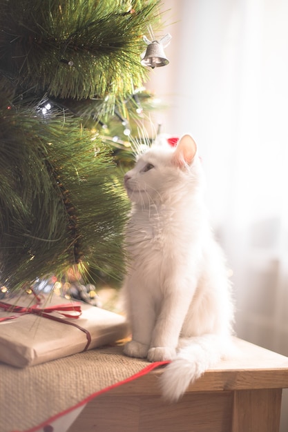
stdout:
[[97,348],[26,369],[0,364],[0,431],[28,431],[49,423],[90,395],[149,366],[146,360],[122,355],[122,349]]

